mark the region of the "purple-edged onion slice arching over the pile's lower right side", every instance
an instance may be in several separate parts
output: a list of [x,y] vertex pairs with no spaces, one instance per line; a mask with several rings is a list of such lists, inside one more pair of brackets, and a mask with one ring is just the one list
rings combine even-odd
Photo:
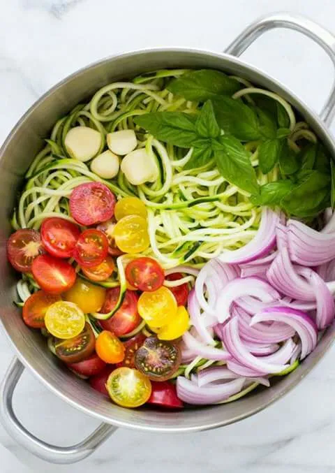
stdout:
[[[290,307],[269,307],[269,309],[253,316],[251,326],[262,321],[284,322],[294,328],[301,340],[301,359],[305,358],[316,347],[318,327],[305,312]],[[230,351],[229,347],[225,346]]]

